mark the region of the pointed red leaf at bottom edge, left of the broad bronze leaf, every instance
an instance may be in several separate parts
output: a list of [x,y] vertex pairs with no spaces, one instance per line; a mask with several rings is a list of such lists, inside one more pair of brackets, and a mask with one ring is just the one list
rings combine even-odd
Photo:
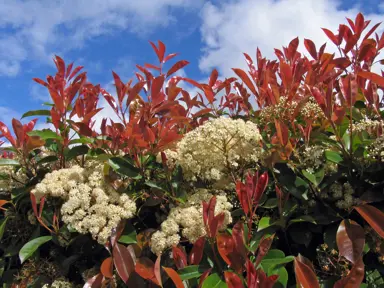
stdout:
[[311,265],[308,265],[308,262],[309,260],[300,254],[298,257],[295,257],[296,283],[299,284],[300,287],[320,288],[315,271]]

